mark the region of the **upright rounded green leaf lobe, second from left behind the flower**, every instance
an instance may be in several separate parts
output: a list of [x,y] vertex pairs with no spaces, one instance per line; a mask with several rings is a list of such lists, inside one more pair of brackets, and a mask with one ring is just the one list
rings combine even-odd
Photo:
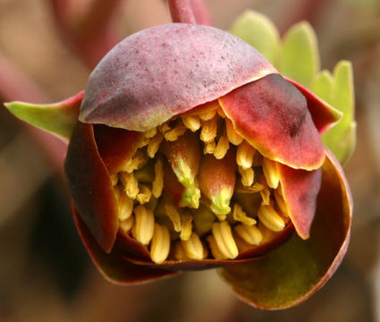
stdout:
[[318,71],[316,34],[308,22],[297,23],[283,38],[280,72],[309,89]]

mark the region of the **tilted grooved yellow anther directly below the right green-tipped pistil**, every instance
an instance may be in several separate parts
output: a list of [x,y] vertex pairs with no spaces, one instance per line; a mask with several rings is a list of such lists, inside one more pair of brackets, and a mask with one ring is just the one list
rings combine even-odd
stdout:
[[212,225],[212,232],[215,237],[217,248],[224,258],[236,258],[239,255],[238,247],[233,239],[231,226],[223,221]]

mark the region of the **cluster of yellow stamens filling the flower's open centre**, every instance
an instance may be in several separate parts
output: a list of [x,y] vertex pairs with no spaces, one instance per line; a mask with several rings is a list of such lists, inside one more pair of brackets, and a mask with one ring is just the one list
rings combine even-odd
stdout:
[[[231,193],[222,190],[207,196],[199,185],[200,175],[189,175],[184,158],[177,160],[178,168],[170,164],[163,144],[186,133],[198,137],[199,163],[206,156],[217,163],[233,151],[236,182],[225,190]],[[175,203],[167,191],[165,171],[172,171],[190,193],[185,206]],[[111,181],[121,229],[146,245],[157,264],[237,258],[282,231],[289,221],[275,162],[235,131],[217,103],[200,114],[185,114],[146,131],[139,148]]]

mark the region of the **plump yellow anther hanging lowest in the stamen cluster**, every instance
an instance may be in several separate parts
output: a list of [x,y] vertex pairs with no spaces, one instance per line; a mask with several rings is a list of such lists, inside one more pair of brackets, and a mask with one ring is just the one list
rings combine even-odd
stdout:
[[152,243],[150,244],[150,258],[156,264],[165,262],[169,256],[170,233],[163,225],[155,224]]

